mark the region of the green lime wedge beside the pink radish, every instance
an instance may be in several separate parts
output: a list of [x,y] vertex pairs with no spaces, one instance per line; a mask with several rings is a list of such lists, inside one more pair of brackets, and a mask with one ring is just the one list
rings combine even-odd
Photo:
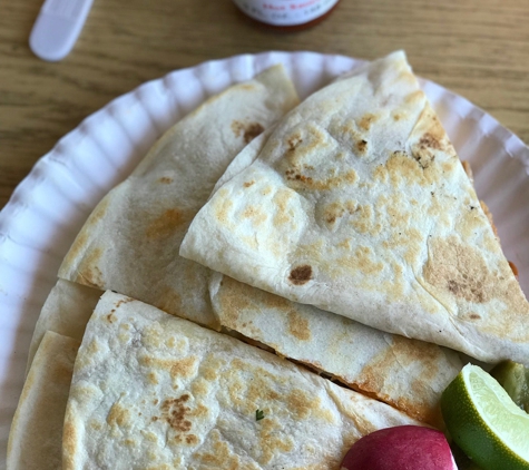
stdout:
[[481,368],[462,369],[441,410],[455,443],[483,470],[529,470],[529,414]]

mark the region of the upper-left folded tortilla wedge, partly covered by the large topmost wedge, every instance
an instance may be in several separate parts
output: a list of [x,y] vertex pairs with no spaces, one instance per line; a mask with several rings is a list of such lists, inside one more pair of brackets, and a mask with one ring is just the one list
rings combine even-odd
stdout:
[[208,99],[99,203],[59,277],[217,329],[207,294],[209,272],[180,258],[178,246],[233,157],[297,102],[281,66]]

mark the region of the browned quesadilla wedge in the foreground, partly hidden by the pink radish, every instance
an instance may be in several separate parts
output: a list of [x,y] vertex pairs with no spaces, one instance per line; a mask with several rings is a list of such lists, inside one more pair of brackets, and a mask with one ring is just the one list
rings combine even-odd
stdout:
[[62,464],[337,469],[360,437],[409,423],[274,354],[107,292],[77,356]]

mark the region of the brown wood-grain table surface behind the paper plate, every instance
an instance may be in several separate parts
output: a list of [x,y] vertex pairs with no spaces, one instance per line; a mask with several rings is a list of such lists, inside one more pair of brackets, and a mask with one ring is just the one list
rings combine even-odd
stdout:
[[39,157],[112,98],[170,70],[266,50],[374,59],[405,49],[415,72],[529,143],[529,2],[342,0],[321,25],[280,33],[231,0],[95,0],[74,51],[48,63],[28,37],[42,0],[0,14],[0,208]]

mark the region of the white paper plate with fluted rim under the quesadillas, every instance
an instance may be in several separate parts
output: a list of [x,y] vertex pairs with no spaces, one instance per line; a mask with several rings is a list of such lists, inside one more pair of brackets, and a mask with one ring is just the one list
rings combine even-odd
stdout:
[[[0,213],[0,468],[23,384],[37,316],[59,264],[99,199],[172,124],[207,97],[282,62],[301,97],[361,61],[313,52],[268,52],[209,61],[149,81],[66,135]],[[490,207],[507,257],[529,293],[529,148],[466,99],[421,85]]]

